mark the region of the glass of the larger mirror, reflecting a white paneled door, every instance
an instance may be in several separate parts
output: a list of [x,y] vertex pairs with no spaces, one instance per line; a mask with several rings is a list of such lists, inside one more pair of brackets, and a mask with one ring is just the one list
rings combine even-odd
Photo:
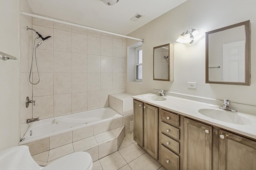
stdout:
[[244,82],[244,29],[209,34],[209,81]]

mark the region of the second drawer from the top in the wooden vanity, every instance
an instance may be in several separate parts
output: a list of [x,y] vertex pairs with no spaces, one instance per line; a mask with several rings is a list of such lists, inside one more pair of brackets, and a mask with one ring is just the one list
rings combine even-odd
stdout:
[[179,140],[180,139],[180,129],[168,125],[167,123],[161,122],[161,131],[164,135],[171,137],[172,139]]

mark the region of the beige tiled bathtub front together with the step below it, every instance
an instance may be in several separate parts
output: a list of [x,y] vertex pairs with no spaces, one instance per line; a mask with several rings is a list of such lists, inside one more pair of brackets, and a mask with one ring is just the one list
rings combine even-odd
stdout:
[[92,160],[96,161],[116,152],[124,139],[124,126],[110,129],[113,123],[116,124],[107,121],[24,145],[29,147],[32,158],[41,166],[77,151],[88,152]]

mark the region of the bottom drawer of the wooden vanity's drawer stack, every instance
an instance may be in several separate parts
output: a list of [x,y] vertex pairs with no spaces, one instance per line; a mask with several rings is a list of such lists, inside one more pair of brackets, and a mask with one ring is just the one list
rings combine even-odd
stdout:
[[161,145],[160,164],[162,164],[162,166],[167,170],[179,170],[179,156]]

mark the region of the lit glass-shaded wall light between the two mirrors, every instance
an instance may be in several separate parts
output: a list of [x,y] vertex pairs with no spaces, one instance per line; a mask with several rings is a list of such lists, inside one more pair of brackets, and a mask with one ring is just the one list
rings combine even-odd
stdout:
[[199,39],[202,35],[199,33],[198,30],[191,28],[184,31],[178,39],[176,40],[179,43],[194,43],[195,40]]

